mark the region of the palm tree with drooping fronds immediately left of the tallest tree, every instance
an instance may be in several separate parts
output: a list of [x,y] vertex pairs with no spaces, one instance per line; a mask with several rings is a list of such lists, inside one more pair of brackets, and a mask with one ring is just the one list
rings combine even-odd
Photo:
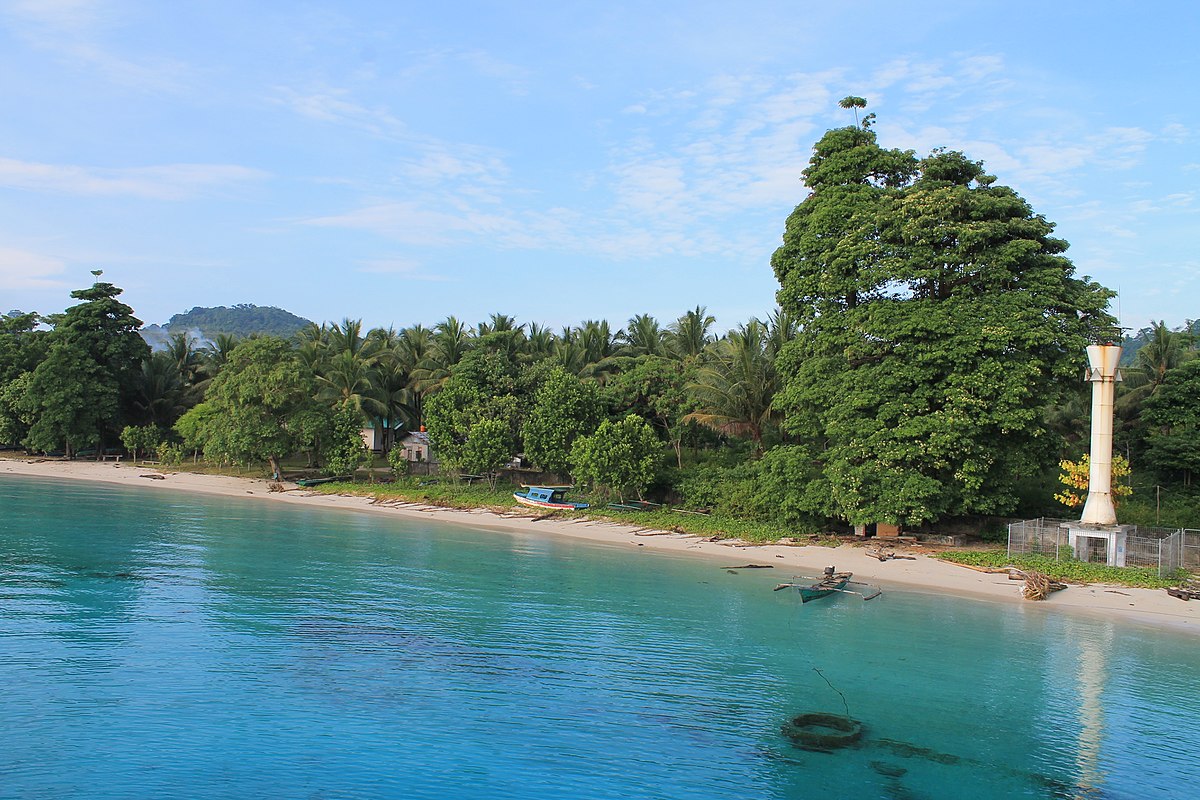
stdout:
[[772,402],[780,381],[766,325],[751,319],[715,342],[688,386],[700,410],[684,421],[720,433],[749,437],[755,452],[763,450],[763,433],[774,419]]

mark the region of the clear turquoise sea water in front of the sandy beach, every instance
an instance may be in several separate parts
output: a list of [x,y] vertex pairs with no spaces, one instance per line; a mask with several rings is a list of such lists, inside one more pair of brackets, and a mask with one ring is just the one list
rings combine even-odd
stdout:
[[0,796],[1195,796],[1195,638],[720,566],[0,477]]

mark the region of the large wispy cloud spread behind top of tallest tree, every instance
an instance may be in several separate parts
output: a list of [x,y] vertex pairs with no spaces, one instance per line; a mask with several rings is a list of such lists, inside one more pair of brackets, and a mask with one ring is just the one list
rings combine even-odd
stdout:
[[[293,94],[287,102],[298,113],[371,131],[409,149],[394,163],[403,199],[374,192],[358,209],[307,224],[370,230],[413,246],[474,241],[618,259],[719,255],[740,263],[761,260],[763,231],[778,230],[806,194],[800,173],[820,132],[852,122],[836,109],[848,83],[840,70],[720,74],[703,84],[622,98],[614,112],[631,127],[611,144],[607,166],[564,176],[587,199],[575,203],[565,191],[565,201],[550,210],[539,205],[541,193],[522,190],[520,169],[493,150],[422,137],[386,109],[366,108],[343,92]],[[859,85],[853,92],[881,110],[886,146],[919,155],[943,145],[962,149],[985,161],[1001,182],[1069,203],[1078,203],[1072,198],[1081,192],[1074,180],[1081,168],[1128,170],[1154,140],[1153,133],[1133,126],[1081,133],[1078,120],[1049,104],[1030,104],[1000,55],[895,59]],[[929,114],[930,107],[947,113]],[[997,115],[1019,118],[1018,125],[1026,120],[1031,136],[1014,140],[1010,132],[994,134],[989,121]],[[604,199],[599,206],[598,197]],[[1186,204],[1183,198],[1172,201]],[[1118,237],[1136,230],[1123,219],[1110,225],[1109,235]]]

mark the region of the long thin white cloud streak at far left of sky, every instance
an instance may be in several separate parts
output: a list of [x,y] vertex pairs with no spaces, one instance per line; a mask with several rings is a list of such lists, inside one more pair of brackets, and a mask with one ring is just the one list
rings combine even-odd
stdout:
[[112,169],[0,158],[0,186],[64,194],[181,200],[265,176],[262,170],[235,164],[160,164]]

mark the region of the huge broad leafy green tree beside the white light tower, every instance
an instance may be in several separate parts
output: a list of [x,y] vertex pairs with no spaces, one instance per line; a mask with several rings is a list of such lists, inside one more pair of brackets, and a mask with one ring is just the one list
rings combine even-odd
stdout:
[[998,513],[1052,461],[1043,410],[1115,336],[1108,290],[982,163],[828,132],[772,263],[802,325],[784,348],[785,428],[821,464],[823,511],[919,524]]

